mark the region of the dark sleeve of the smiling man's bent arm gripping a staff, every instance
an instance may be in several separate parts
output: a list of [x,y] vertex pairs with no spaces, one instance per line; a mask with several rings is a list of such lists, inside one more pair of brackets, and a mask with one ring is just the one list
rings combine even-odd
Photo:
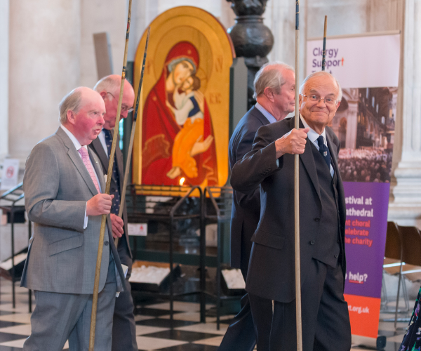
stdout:
[[276,164],[274,136],[269,126],[262,126],[256,133],[253,149],[243,159],[236,161],[232,168],[231,185],[234,190],[244,193],[253,192],[265,178],[279,171],[283,157]]

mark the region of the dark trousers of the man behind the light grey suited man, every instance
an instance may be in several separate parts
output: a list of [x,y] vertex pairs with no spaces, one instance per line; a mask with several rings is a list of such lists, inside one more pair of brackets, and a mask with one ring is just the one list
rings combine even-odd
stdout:
[[131,296],[131,285],[128,282],[131,275],[132,259],[128,253],[126,239],[121,237],[120,241],[119,258],[123,265],[128,266],[128,272],[124,282],[126,284],[125,290],[121,291],[119,297],[116,298],[114,307],[112,351],[138,351],[133,298]]

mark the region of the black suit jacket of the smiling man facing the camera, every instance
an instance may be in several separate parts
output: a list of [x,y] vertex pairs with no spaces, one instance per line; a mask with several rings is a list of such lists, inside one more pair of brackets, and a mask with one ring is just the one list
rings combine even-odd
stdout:
[[[231,184],[239,192],[253,192],[260,185],[260,221],[253,234],[253,250],[248,268],[246,290],[249,293],[289,303],[295,298],[294,244],[294,155],[284,154],[276,165],[275,140],[294,128],[294,119],[262,126],[255,137],[253,150],[237,161]],[[345,277],[345,194],[338,171],[339,140],[326,127],[326,139],[338,176],[338,211],[340,215],[341,254],[339,263]],[[300,154],[300,259],[301,282],[314,255],[314,241],[323,242],[319,232],[321,197],[311,141]],[[332,213],[337,216],[337,213]],[[313,244],[312,244],[313,242]],[[345,279],[344,279],[345,282]],[[342,286],[343,288],[343,286]]]

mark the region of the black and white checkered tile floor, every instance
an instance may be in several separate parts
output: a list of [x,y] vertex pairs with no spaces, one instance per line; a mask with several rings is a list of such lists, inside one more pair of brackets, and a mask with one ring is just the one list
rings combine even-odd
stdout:
[[[20,351],[31,331],[28,312],[28,293],[16,284],[16,307],[12,307],[11,283],[0,278],[0,351]],[[413,304],[411,303],[411,306]],[[34,307],[34,305],[33,305]],[[207,308],[213,307],[208,305]],[[215,317],[207,317],[206,324],[199,323],[199,304],[175,302],[175,328],[169,325],[169,303],[145,305],[138,310],[136,335],[139,350],[161,351],[215,351],[224,336],[229,319],[222,317],[220,330],[216,329]],[[382,314],[381,318],[393,317]],[[385,351],[397,351],[403,338],[406,323],[399,323],[394,331],[392,322],[380,322],[379,333],[387,336]],[[68,345],[65,345],[67,350]],[[353,347],[352,350],[368,350]],[[237,351],[237,350],[233,350]],[[241,351],[241,350],[238,350]]]

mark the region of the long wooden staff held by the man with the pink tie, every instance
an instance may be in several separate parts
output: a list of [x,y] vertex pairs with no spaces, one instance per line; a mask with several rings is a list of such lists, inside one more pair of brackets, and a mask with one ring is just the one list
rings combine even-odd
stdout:
[[[112,166],[114,165],[114,154],[116,152],[117,136],[119,134],[119,121],[121,114],[121,102],[123,100],[123,88],[124,80],[126,79],[126,64],[127,64],[127,50],[128,50],[128,34],[130,33],[130,20],[131,20],[131,3],[128,2],[128,16],[127,16],[127,29],[126,29],[126,46],[124,47],[124,58],[123,58],[123,72],[121,72],[121,85],[119,95],[119,105],[117,105],[116,114],[116,125],[114,126],[114,135],[112,138],[111,153],[109,154],[108,162],[108,173],[107,173],[107,185],[105,187],[105,194],[109,194],[109,187],[111,185],[112,178]],[[98,256],[95,268],[95,283],[93,285],[93,297],[92,297],[92,313],[91,313],[91,331],[89,333],[89,351],[93,351],[95,345],[95,326],[96,326],[96,312],[98,307],[98,289],[100,286],[100,272],[101,272],[101,260],[102,260],[102,247],[104,246],[104,235],[105,226],[107,225],[107,215],[102,215],[101,231],[100,231],[100,242],[98,243]]]

